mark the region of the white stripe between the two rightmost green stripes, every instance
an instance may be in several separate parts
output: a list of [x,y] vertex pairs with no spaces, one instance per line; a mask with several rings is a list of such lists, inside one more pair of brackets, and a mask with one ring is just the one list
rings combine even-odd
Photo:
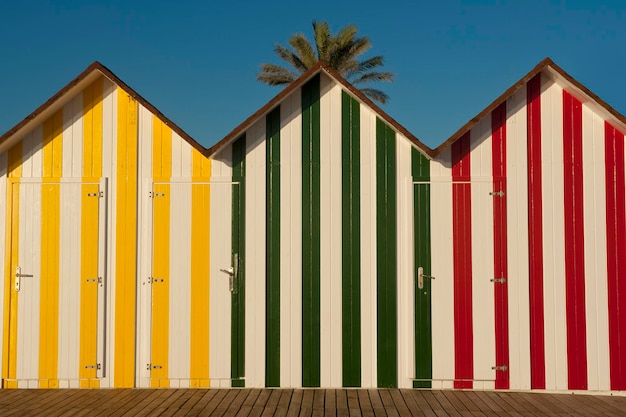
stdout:
[[415,377],[415,288],[413,286],[413,178],[411,148],[405,137],[396,134],[397,190],[397,315],[398,387],[412,388]]

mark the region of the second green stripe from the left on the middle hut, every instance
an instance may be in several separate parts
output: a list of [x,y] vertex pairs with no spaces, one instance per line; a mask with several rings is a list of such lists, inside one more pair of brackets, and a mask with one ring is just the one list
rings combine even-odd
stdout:
[[266,117],[265,386],[280,386],[280,107]]

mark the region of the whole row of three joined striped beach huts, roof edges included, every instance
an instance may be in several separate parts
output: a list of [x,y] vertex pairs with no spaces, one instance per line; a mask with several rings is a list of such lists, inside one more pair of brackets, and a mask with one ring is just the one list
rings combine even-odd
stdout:
[[624,390],[624,132],[546,59],[429,149],[319,63],[204,149],[94,63],[0,137],[3,387]]

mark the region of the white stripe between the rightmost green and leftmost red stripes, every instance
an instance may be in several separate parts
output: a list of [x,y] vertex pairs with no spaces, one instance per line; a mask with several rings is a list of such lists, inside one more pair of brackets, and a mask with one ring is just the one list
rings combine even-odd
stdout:
[[448,147],[430,164],[433,388],[451,388],[455,375],[451,160]]

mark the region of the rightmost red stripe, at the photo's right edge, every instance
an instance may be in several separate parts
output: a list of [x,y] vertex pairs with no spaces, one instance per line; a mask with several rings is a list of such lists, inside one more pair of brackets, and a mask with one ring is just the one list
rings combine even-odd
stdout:
[[[609,293],[609,362],[611,389],[626,389],[626,198],[624,134],[604,124],[606,178],[606,254]],[[624,342],[624,343],[623,343]]]

